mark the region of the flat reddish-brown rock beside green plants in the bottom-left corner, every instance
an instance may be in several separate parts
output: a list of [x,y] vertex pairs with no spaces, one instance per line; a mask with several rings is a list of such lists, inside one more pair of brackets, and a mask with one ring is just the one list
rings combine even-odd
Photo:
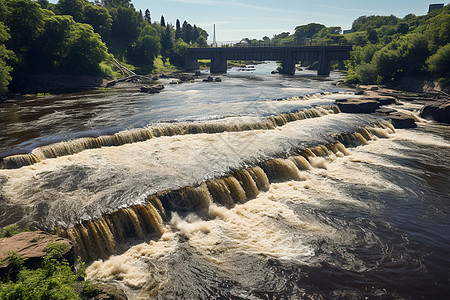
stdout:
[[25,266],[33,269],[40,267],[47,255],[47,246],[54,243],[68,246],[63,256],[69,263],[73,264],[73,244],[68,239],[44,231],[21,232],[12,237],[0,239],[0,276],[5,277],[8,274],[9,263],[6,258],[9,256],[9,253],[17,253],[24,259]]

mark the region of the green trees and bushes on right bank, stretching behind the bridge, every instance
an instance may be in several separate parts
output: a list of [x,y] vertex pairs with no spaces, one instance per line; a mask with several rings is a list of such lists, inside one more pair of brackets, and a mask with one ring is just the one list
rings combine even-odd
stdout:
[[449,81],[450,5],[424,16],[361,16],[350,32],[341,32],[340,27],[310,23],[297,26],[293,34],[244,38],[240,44],[354,45],[345,64],[349,83],[386,84],[401,77]]

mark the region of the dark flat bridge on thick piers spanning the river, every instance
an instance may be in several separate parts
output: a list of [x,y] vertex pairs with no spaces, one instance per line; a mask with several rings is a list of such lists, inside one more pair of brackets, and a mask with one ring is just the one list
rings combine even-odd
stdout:
[[299,61],[318,61],[317,74],[328,76],[331,61],[349,59],[351,50],[352,46],[188,48],[185,69],[198,69],[199,59],[211,59],[211,73],[226,73],[227,60],[275,60],[283,63],[281,73],[293,75]]

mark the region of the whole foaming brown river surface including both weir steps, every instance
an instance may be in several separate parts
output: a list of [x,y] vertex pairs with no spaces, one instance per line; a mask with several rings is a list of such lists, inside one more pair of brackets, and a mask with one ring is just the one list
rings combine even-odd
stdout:
[[450,128],[273,68],[2,104],[0,225],[65,228],[131,299],[446,298]]

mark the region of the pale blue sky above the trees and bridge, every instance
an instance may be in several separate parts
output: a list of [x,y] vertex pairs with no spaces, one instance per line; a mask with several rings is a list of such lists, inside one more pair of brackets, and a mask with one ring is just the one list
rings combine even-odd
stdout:
[[295,27],[308,23],[350,29],[359,16],[409,13],[425,15],[431,3],[423,0],[131,0],[136,9],[150,10],[152,21],[175,24],[187,20],[209,33],[213,24],[219,42],[261,39],[281,32],[294,33]]

